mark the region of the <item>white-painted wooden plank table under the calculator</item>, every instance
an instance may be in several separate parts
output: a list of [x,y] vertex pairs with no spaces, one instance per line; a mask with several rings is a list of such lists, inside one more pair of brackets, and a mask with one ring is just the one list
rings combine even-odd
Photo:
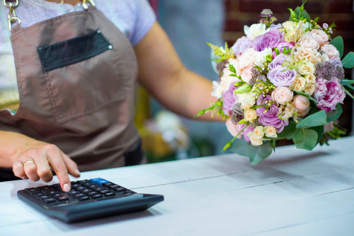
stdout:
[[3,182],[0,235],[354,235],[353,147],[347,137],[311,152],[280,147],[255,166],[224,154],[83,172],[80,179],[101,177],[165,200],[74,224],[17,198],[17,190],[44,182]]

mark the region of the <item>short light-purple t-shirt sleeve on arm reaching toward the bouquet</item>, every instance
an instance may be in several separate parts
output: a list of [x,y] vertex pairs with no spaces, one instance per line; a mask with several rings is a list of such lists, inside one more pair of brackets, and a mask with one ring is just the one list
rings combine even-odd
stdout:
[[150,31],[156,21],[156,15],[147,0],[136,0],[136,14],[131,43],[138,44]]

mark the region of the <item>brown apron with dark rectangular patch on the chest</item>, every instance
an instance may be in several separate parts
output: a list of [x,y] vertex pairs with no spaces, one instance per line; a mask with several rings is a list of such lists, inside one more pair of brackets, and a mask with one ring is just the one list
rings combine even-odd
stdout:
[[19,109],[0,111],[0,130],[55,144],[80,171],[141,163],[134,49],[102,12],[17,24],[11,42]]

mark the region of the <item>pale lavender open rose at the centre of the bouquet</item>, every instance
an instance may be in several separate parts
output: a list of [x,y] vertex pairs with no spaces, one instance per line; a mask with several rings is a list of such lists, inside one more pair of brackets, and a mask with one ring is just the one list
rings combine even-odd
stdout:
[[276,66],[276,68],[270,70],[267,74],[269,81],[277,87],[290,86],[296,79],[296,76],[296,70],[287,70],[282,66]]

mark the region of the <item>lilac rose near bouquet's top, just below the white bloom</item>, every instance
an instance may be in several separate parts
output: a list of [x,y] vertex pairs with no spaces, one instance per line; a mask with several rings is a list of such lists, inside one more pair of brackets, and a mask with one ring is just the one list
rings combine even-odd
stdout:
[[252,43],[252,48],[256,51],[263,51],[266,48],[274,48],[279,42],[283,41],[283,33],[277,28],[272,28],[269,32],[255,38]]

